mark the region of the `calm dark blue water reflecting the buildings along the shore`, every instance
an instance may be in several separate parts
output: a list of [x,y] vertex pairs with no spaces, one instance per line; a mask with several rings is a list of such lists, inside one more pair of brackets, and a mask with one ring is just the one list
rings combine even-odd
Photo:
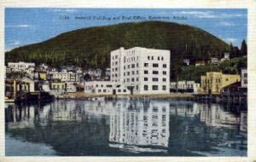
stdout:
[[7,156],[247,156],[245,106],[129,99],[5,106]]

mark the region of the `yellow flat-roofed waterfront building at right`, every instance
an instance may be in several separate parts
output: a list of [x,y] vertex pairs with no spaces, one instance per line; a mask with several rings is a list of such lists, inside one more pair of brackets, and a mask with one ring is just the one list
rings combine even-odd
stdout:
[[236,74],[207,72],[201,76],[201,93],[219,94],[225,86],[239,82],[240,79]]

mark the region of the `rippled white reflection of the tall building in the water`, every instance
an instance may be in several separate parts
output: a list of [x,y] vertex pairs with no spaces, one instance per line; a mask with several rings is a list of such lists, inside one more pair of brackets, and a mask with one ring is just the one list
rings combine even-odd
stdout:
[[[124,147],[118,143],[168,147],[170,111],[167,102],[117,101],[114,105],[110,114],[110,147]],[[149,151],[147,148],[133,149]]]

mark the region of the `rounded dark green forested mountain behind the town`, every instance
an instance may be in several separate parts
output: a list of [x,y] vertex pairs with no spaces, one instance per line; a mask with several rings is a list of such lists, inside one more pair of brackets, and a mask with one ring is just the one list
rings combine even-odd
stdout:
[[6,52],[5,58],[6,62],[45,62],[52,67],[73,64],[84,68],[105,68],[110,67],[110,51],[135,46],[170,49],[174,74],[178,72],[183,59],[207,61],[212,56],[220,57],[229,49],[224,41],[194,26],[142,21],[61,33],[44,42]]

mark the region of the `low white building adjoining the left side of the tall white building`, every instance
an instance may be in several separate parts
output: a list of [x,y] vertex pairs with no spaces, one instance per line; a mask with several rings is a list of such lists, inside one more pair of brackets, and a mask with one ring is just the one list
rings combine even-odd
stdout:
[[128,95],[130,90],[124,85],[115,84],[110,81],[89,81],[84,82],[84,92],[91,94],[105,95]]

